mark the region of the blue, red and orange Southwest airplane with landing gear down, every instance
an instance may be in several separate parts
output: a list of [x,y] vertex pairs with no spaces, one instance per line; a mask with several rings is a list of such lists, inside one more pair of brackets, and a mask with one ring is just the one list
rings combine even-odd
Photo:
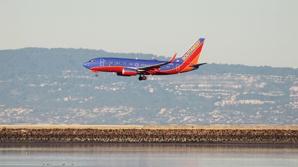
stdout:
[[146,75],[170,75],[180,74],[183,72],[193,71],[199,69],[201,65],[206,63],[199,63],[199,56],[205,38],[199,40],[188,49],[188,51],[181,57],[176,58],[174,54],[168,61],[160,61],[152,58],[151,60],[138,60],[131,58],[93,58],[83,67],[95,72],[95,76],[99,76],[98,72],[114,72],[117,76],[137,76],[139,80],[146,80]]

